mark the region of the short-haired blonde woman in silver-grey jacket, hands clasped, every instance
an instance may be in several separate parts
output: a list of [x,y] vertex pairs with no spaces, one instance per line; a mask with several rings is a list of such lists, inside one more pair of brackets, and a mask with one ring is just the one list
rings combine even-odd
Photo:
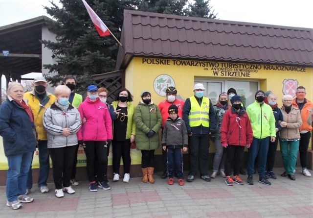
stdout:
[[70,186],[70,179],[81,118],[78,110],[68,102],[71,91],[66,85],[57,86],[54,92],[57,99],[45,110],[43,123],[52,160],[55,196],[63,197],[63,191],[75,193]]

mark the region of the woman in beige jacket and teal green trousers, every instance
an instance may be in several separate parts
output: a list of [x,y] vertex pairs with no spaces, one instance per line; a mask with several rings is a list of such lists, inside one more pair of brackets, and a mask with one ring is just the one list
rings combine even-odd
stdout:
[[294,166],[297,162],[297,154],[299,149],[300,132],[299,127],[302,125],[300,110],[292,106],[292,96],[285,95],[282,97],[283,106],[281,111],[283,121],[280,125],[280,152],[282,154],[285,172],[281,176],[287,176],[291,180],[295,180]]

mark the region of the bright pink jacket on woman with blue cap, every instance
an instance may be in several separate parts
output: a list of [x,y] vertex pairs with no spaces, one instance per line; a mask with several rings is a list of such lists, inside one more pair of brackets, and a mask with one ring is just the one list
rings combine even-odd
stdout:
[[82,102],[78,111],[82,120],[86,123],[77,132],[78,140],[83,141],[107,141],[112,140],[112,120],[107,105],[97,98],[91,101],[89,97]]

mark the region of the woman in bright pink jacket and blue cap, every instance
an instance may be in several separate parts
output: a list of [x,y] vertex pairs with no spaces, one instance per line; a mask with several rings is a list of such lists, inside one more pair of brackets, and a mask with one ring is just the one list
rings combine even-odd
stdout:
[[110,189],[104,178],[108,166],[107,146],[112,140],[112,120],[108,106],[98,97],[98,88],[95,85],[88,87],[87,95],[86,100],[78,107],[82,120],[86,122],[78,131],[77,138],[78,144],[84,146],[87,158],[89,190],[97,192],[97,186],[104,190]]

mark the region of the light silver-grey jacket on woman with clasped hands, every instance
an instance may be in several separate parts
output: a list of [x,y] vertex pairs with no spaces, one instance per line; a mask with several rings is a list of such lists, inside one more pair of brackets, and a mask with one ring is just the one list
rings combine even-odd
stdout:
[[[48,148],[66,147],[77,145],[76,133],[81,126],[81,117],[78,110],[69,105],[66,111],[62,111],[55,103],[45,110],[44,127],[47,132]],[[70,129],[70,135],[62,136],[63,128]]]

